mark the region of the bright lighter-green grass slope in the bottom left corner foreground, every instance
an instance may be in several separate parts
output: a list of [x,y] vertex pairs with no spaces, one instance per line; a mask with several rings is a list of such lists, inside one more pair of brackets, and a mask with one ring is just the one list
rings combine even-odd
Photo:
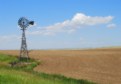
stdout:
[[28,72],[0,69],[0,84],[62,84]]

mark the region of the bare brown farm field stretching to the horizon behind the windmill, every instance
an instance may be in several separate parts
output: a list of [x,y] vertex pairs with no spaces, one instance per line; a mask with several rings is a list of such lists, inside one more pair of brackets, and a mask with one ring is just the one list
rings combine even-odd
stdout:
[[[0,51],[18,55],[18,51]],[[36,50],[30,57],[41,60],[34,70],[87,79],[100,84],[121,84],[121,48],[95,50]]]

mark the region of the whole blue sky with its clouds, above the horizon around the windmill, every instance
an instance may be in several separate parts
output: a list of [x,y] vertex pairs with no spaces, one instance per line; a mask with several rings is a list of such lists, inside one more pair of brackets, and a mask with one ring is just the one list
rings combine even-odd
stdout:
[[121,46],[121,0],[0,0],[0,49],[20,49],[20,17],[34,20],[28,49]]

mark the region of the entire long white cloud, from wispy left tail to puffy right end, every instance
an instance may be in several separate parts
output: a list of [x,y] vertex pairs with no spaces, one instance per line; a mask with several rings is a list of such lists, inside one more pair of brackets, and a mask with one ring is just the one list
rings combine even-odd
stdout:
[[40,30],[28,32],[31,35],[54,35],[60,32],[72,33],[79,28],[84,28],[85,26],[95,26],[101,24],[107,24],[113,19],[112,16],[88,16],[83,13],[77,13],[70,20],[65,20],[63,22],[55,23],[50,26],[40,27]]

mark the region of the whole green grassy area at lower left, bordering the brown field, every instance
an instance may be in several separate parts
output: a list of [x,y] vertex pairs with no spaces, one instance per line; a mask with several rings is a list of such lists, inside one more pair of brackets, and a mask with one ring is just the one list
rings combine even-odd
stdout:
[[36,60],[28,61],[27,65],[20,63],[11,67],[10,63],[14,61],[20,63],[15,56],[0,54],[0,84],[94,84],[86,80],[35,72],[33,68],[39,64]]

